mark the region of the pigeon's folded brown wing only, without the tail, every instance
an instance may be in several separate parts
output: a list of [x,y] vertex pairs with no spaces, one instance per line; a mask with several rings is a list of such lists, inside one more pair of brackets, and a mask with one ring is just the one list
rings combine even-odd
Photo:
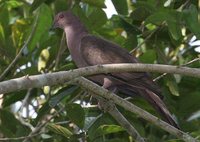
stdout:
[[[113,63],[138,63],[138,60],[127,50],[105,39],[87,35],[81,40],[82,59],[89,65]],[[156,94],[160,89],[145,72],[111,73],[112,77],[133,85],[146,87]],[[121,84],[122,84],[121,83]],[[119,84],[120,85],[120,84]]]

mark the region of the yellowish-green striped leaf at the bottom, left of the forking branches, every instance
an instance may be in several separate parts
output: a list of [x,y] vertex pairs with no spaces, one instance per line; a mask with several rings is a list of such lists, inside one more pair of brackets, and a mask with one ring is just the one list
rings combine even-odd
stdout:
[[73,135],[73,133],[69,129],[54,123],[49,123],[47,125],[47,128],[53,131],[54,133],[65,136],[66,138],[69,138]]

